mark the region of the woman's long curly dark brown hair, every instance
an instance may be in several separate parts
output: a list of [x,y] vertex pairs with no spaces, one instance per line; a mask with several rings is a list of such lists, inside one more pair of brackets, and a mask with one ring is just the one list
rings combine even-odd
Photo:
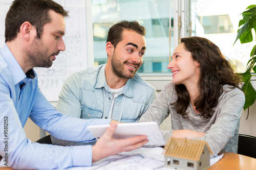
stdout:
[[[185,49],[191,53],[194,61],[200,63],[200,78],[198,82],[199,95],[194,101],[196,110],[201,116],[209,118],[214,114],[213,108],[217,106],[220,95],[223,93],[223,85],[232,88],[239,87],[240,77],[236,75],[228,60],[225,59],[220,48],[202,37],[181,38]],[[171,105],[177,109],[177,113],[187,117],[187,107],[190,102],[189,93],[183,84],[175,85],[178,99]]]

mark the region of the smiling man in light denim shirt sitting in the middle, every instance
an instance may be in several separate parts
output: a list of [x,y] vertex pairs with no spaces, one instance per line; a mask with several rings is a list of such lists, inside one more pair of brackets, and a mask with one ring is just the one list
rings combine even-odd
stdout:
[[[75,72],[59,94],[56,109],[63,114],[91,119],[137,122],[156,99],[155,88],[136,71],[146,51],[145,28],[137,21],[120,21],[112,26],[106,40],[106,64]],[[88,144],[52,137],[54,144]],[[93,144],[93,143],[90,143]]]

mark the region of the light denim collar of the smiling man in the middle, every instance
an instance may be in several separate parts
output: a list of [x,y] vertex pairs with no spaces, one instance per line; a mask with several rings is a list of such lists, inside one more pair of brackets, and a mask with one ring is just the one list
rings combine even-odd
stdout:
[[[97,77],[97,82],[95,84],[95,88],[104,87],[106,91],[111,92],[110,87],[106,83],[105,67],[106,67],[106,64],[104,64],[99,69],[99,74],[98,74],[98,77]],[[123,94],[126,95],[128,98],[132,98],[133,97],[133,93],[134,93],[133,79],[128,79],[127,82],[124,85]]]

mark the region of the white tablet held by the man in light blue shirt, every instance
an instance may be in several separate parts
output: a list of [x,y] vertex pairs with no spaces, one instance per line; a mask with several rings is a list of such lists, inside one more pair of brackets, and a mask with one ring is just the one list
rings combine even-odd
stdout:
[[[96,139],[100,138],[110,125],[88,126]],[[117,124],[113,134],[114,139],[125,139],[139,135],[146,135],[148,142],[143,147],[160,147],[165,145],[163,134],[156,122]]]

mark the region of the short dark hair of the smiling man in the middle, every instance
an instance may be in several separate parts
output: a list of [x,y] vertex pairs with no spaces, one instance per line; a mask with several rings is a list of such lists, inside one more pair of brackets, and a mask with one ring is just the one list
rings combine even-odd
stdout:
[[122,20],[110,28],[106,42],[111,42],[114,47],[116,47],[118,42],[122,41],[122,33],[124,30],[135,31],[143,36],[146,35],[145,27],[139,25],[137,21]]

